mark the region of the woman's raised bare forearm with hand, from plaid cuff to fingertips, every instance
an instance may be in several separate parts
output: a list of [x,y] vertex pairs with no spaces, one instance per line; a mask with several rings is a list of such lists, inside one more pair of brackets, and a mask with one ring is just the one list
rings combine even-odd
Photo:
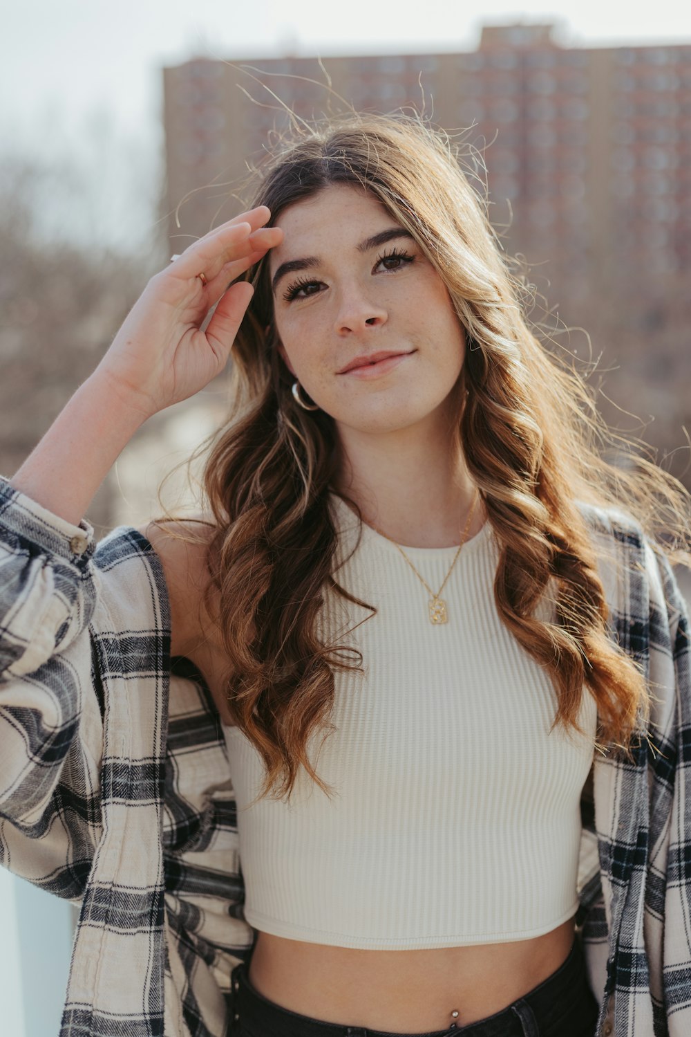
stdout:
[[10,480],[15,488],[79,524],[147,418],[223,370],[253,290],[228,285],[281,241],[278,228],[263,227],[269,215],[260,206],[223,224],[150,279],[96,370]]

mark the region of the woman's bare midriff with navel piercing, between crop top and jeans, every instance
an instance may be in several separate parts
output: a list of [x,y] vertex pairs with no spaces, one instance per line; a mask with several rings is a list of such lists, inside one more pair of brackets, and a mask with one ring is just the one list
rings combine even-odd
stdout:
[[364,951],[259,932],[249,978],[275,1004],[324,1022],[402,1034],[452,1022],[460,1029],[551,976],[566,961],[574,931],[571,919],[530,940],[411,951]]

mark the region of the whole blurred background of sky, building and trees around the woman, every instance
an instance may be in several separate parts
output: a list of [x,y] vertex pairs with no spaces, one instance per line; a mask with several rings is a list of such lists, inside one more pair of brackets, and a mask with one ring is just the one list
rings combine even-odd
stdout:
[[[464,142],[550,347],[588,364],[609,423],[691,486],[691,8],[481,6],[4,10],[0,472],[23,461],[171,253],[240,211],[284,106],[305,118],[407,106]],[[90,509],[99,535],[159,511],[165,473],[223,420],[226,381],[133,440]],[[165,500],[189,499],[182,472]],[[57,1033],[71,924],[68,905],[0,870],[3,1032]]]

